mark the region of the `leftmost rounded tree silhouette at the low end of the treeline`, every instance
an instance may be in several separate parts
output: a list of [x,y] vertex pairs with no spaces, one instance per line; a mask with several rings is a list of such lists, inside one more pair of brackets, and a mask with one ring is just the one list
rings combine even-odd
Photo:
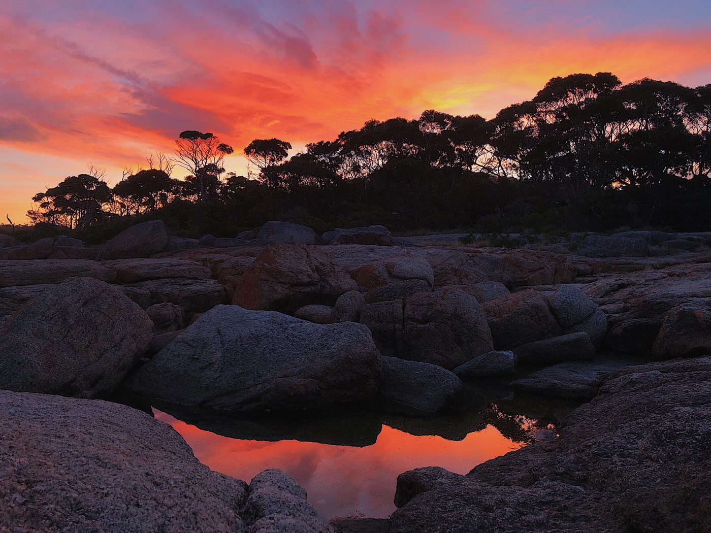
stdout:
[[59,185],[32,198],[37,208],[27,212],[33,222],[86,230],[105,215],[111,200],[109,185],[96,176],[68,176]]

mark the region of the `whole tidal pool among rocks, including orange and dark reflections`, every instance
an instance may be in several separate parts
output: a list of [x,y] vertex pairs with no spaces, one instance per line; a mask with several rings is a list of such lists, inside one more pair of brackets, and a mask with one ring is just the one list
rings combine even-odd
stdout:
[[503,415],[496,406],[455,419],[383,420],[370,414],[343,414],[267,427],[173,412],[182,421],[153,411],[217,472],[247,482],[267,468],[289,473],[324,519],[354,514],[387,517],[395,510],[398,474],[424,466],[466,474],[484,461],[525,446],[528,431],[538,424],[523,415]]

